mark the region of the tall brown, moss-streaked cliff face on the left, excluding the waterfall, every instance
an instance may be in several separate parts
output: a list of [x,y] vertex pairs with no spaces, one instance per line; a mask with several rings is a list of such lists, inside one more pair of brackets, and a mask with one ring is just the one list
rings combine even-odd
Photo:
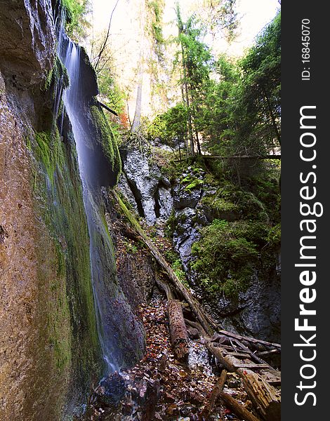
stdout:
[[[0,9],[0,419],[60,420],[84,402],[103,371],[95,316],[90,239],[72,125],[57,121],[55,85],[63,72],[55,51],[51,0],[15,0]],[[95,74],[81,54],[86,120],[98,182],[120,169]],[[95,107],[96,109],[93,109]],[[57,114],[57,109],[56,109]],[[60,126],[62,132],[60,133]],[[107,150],[105,150],[105,147]],[[117,281],[102,196],[95,202],[107,328],[121,366],[139,358],[144,333]],[[116,306],[121,309],[117,312]],[[120,320],[120,323],[119,323]],[[132,327],[133,326],[133,327]],[[129,329],[138,332],[133,338]]]

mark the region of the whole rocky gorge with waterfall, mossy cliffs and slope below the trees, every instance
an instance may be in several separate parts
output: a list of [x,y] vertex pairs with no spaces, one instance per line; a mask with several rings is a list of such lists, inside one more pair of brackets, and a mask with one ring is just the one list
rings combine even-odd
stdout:
[[[196,374],[204,401],[189,395],[194,420],[216,385],[194,317],[209,323],[206,310],[213,330],[279,342],[278,168],[269,163],[274,176],[246,175],[241,184],[207,156],[178,159],[160,139],[117,142],[88,54],[65,32],[63,4],[0,8],[0,419],[138,420],[136,402],[148,405],[146,390],[161,387],[159,413],[178,419],[171,384],[157,375],[164,380],[171,368],[186,393],[180,375],[190,368],[173,362],[171,341],[161,338],[169,334],[165,290],[192,323],[190,349],[207,367]],[[221,236],[210,252],[214,227]],[[219,271],[213,278],[210,266]],[[132,403],[136,386],[123,373],[140,382],[139,367],[149,383]],[[127,418],[93,408],[113,373],[114,403],[126,393]],[[92,410],[88,418],[87,407],[98,417]]]

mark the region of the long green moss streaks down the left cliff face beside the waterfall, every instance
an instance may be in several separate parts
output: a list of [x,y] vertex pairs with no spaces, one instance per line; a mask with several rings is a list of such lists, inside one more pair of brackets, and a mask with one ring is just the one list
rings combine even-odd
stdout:
[[32,151],[37,161],[34,192],[47,241],[38,266],[47,317],[41,338],[44,358],[52,382],[74,382],[73,394],[87,394],[92,373],[100,373],[101,358],[77,152],[74,142],[62,142],[56,129],[36,133]]

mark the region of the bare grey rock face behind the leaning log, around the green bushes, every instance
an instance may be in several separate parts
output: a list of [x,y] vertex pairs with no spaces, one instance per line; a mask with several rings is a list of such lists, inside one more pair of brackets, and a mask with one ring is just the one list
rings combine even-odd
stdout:
[[[200,229],[209,225],[214,218],[227,221],[239,219],[237,210],[214,213],[206,205],[208,196],[215,193],[211,185],[204,182],[202,168],[187,167],[182,175],[169,183],[156,163],[147,158],[147,152],[134,149],[123,154],[125,178],[119,187],[131,206],[149,225],[164,222],[169,217],[173,248],[180,256],[190,286],[199,295],[199,300],[215,319],[228,330],[252,335],[263,340],[280,340],[280,278],[277,269],[255,271],[251,286],[239,293],[239,298],[226,300],[222,296],[210,298],[199,287],[196,274],[190,263],[192,245],[201,237]],[[158,201],[157,186],[165,189],[164,201]],[[158,203],[158,205],[157,205]],[[157,218],[154,209],[159,206],[163,218]]]

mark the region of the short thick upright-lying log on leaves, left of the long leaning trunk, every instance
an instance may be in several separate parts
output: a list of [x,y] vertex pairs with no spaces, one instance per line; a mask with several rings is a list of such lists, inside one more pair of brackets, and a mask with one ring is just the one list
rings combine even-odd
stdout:
[[171,344],[174,354],[179,360],[187,360],[189,355],[188,334],[185,327],[185,319],[181,303],[177,300],[170,300],[167,305],[169,312],[169,328]]

